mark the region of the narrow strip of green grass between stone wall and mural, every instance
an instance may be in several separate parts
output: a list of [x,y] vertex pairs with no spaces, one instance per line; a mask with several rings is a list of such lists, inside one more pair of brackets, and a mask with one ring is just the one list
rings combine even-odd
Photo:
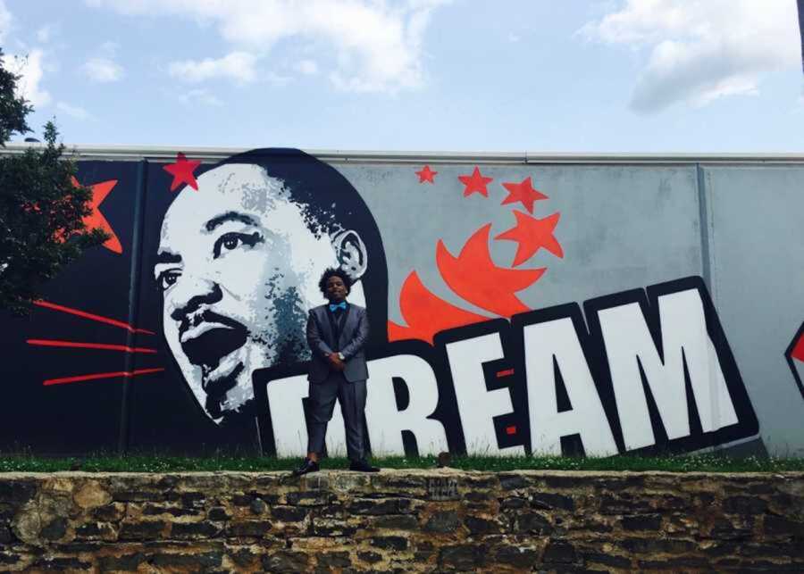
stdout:
[[[48,458],[30,454],[0,454],[0,472],[57,472],[83,470],[89,472],[180,472],[180,471],[271,471],[291,470],[299,459],[276,459],[214,455],[182,457],[163,455],[94,455],[87,458]],[[389,456],[373,459],[383,469],[431,469],[435,457],[405,458]],[[804,471],[800,458],[730,458],[716,454],[677,455],[665,457],[613,456],[580,458],[532,456],[497,458],[490,456],[455,456],[450,467],[462,470],[666,470],[670,472],[785,472]],[[347,469],[348,460],[331,458],[322,462],[323,469]]]

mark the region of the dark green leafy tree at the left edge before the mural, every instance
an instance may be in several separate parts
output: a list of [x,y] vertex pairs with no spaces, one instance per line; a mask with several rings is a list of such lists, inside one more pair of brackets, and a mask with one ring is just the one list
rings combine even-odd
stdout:
[[[0,49],[0,146],[30,131],[33,107],[16,93],[20,76],[6,69]],[[64,155],[53,122],[45,145],[0,156],[0,309],[25,313],[43,283],[108,237],[87,229],[92,190],[76,187],[76,163]]]

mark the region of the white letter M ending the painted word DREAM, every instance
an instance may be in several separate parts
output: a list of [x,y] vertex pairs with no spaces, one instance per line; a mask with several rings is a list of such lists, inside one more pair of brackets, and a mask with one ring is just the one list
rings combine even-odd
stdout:
[[670,441],[691,434],[688,401],[703,433],[738,422],[718,349],[730,362],[731,352],[716,318],[716,338],[723,340],[710,336],[704,289],[698,278],[680,279],[649,287],[650,302],[638,290],[586,304],[590,329],[602,338],[626,451],[656,443],[648,391]]

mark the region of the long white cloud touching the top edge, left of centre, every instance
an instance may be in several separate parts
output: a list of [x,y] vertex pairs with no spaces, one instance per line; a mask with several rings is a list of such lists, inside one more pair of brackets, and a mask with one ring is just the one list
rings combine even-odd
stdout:
[[423,37],[449,0],[86,0],[124,14],[188,17],[212,25],[239,50],[262,56],[295,39],[331,54],[336,86],[396,91],[423,84]]

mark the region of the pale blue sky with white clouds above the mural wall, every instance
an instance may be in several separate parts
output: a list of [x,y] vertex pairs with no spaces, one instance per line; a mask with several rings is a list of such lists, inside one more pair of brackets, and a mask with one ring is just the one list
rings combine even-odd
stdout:
[[0,0],[0,46],[36,108],[32,135],[55,118],[68,144],[800,153],[796,10],[796,0]]

